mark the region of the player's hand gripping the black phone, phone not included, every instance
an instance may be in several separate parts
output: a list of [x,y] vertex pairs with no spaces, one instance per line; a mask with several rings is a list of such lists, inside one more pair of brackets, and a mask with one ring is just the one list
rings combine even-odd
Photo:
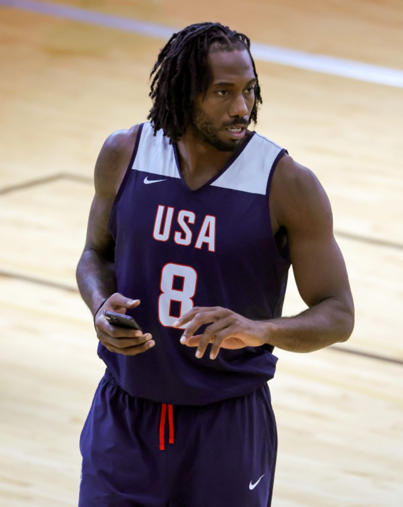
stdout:
[[108,322],[104,310],[125,314],[128,308],[136,308],[138,299],[129,299],[122,294],[110,296],[97,310],[94,316],[95,330],[99,341],[109,351],[124,355],[137,355],[154,347],[155,341],[150,333],[143,334],[137,329],[118,327]]

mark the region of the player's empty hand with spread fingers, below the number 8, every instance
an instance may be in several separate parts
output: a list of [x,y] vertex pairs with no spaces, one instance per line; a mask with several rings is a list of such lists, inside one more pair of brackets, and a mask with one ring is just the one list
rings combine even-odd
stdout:
[[[217,357],[220,348],[238,349],[259,347],[267,343],[268,322],[250,320],[227,308],[194,307],[174,323],[175,328],[187,324],[180,343],[197,347],[196,357],[203,357],[211,343],[210,359]],[[203,324],[209,324],[201,335],[194,335]]]

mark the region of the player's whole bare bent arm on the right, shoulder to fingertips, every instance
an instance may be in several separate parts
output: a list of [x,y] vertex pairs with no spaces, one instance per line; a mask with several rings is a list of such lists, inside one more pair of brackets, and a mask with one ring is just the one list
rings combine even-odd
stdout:
[[[201,357],[212,343],[219,348],[270,344],[294,352],[310,352],[352,333],[354,307],[346,266],[333,235],[332,210],[314,174],[288,155],[279,162],[270,194],[272,228],[286,230],[295,279],[308,309],[294,317],[253,321],[225,308],[193,308],[178,319],[187,324],[181,343],[197,347]],[[212,322],[212,323],[211,323]],[[211,323],[194,336],[202,324]]]

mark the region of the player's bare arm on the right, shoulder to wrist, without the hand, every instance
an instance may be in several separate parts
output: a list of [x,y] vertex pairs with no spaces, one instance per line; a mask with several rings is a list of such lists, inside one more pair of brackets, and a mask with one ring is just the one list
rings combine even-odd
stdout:
[[349,338],[354,306],[322,186],[291,157],[286,155],[281,162],[273,178],[272,213],[287,232],[297,287],[309,308],[270,321],[267,341],[285,350],[310,352]]

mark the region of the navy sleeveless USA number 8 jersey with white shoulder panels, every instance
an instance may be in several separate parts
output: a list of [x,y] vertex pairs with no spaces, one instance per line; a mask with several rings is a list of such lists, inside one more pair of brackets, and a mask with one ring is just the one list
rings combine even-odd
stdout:
[[281,315],[289,259],[271,230],[269,190],[285,150],[256,132],[208,183],[190,190],[176,144],[141,124],[117,193],[109,231],[117,291],[141,304],[129,310],[155,346],[136,356],[98,354],[133,396],[205,405],[247,394],[271,379],[273,347],[221,349],[201,359],[180,344],[172,324],[193,306],[221,306],[247,318]]

